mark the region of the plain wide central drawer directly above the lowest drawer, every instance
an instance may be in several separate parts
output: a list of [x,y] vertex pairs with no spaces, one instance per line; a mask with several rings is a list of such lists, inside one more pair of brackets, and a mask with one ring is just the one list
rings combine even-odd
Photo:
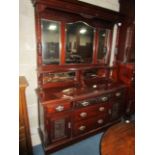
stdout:
[[107,112],[108,112],[108,103],[75,110],[73,115],[75,121],[81,121],[86,120],[90,117],[95,117],[97,115],[104,116],[107,114]]

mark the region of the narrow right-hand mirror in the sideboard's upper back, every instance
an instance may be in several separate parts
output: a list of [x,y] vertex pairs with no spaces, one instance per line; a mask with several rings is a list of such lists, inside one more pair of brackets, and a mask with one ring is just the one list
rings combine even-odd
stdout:
[[108,63],[108,52],[110,52],[110,36],[111,30],[103,29],[99,30],[99,44],[98,44],[98,62]]

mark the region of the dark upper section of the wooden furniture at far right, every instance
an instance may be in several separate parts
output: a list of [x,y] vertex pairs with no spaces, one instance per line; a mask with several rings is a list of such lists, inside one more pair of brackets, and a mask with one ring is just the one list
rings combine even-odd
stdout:
[[120,27],[117,60],[135,61],[135,0],[120,0],[120,13],[125,16]]

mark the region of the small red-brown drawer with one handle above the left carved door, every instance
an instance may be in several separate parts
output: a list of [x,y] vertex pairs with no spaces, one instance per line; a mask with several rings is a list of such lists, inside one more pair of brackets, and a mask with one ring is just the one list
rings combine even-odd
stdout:
[[67,110],[71,109],[71,107],[72,106],[71,106],[70,102],[48,104],[46,106],[46,111],[48,114],[59,113],[59,112],[67,111]]

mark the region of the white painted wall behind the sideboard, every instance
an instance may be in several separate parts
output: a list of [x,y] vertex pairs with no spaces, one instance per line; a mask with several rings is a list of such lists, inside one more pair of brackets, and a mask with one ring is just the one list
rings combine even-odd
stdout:
[[[81,0],[91,4],[119,11],[118,0]],[[31,0],[19,1],[19,73],[24,75],[29,83],[26,89],[27,107],[30,120],[32,144],[40,144],[38,136],[38,113],[37,113],[37,88],[36,76],[36,42],[34,8]]]

